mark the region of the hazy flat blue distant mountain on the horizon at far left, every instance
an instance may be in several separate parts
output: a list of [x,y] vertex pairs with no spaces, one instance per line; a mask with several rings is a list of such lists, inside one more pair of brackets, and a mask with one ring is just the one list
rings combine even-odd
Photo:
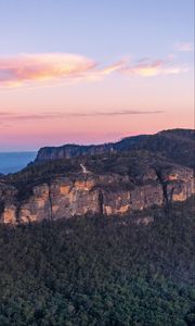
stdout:
[[0,173],[17,172],[34,161],[36,152],[9,152],[0,153]]

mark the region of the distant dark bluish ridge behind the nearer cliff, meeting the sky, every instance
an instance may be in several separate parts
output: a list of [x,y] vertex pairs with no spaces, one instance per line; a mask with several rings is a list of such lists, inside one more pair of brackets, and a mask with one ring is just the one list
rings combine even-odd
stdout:
[[195,133],[193,129],[169,129],[155,135],[126,137],[120,141],[103,145],[80,146],[67,143],[61,147],[44,147],[38,151],[35,162],[130,150],[148,150],[160,152],[179,164],[192,167],[195,161],[194,141]]

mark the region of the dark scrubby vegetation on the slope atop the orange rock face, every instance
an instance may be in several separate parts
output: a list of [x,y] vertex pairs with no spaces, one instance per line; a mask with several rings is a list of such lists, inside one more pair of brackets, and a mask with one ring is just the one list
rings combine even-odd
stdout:
[[10,174],[4,177],[4,180],[13,185],[23,185],[24,187],[26,184],[36,184],[57,176],[82,174],[80,163],[84,164],[92,174],[119,174],[130,177],[142,176],[148,167],[177,166],[177,164],[160,154],[136,150],[43,161],[37,164],[29,164],[18,173]]

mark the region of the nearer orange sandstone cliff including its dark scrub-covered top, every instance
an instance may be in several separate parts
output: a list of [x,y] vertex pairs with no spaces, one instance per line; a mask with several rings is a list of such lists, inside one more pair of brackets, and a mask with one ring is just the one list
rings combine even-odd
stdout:
[[118,215],[170,205],[195,192],[193,177],[190,167],[140,151],[44,162],[1,178],[0,221]]

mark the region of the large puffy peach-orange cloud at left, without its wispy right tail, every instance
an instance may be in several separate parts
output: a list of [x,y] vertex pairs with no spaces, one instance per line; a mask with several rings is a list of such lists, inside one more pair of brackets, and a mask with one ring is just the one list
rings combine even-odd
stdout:
[[20,86],[28,82],[74,78],[94,68],[95,63],[81,55],[66,53],[22,54],[0,59],[0,84]]

